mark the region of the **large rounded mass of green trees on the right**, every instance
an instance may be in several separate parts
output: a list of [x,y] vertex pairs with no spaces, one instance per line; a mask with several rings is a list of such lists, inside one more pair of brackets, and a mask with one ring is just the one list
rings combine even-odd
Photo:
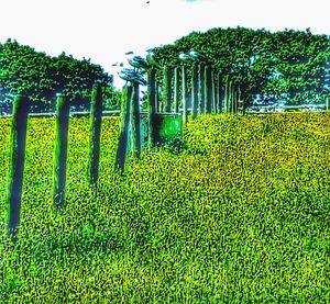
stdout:
[[[285,30],[212,29],[193,32],[174,44],[156,47],[161,64],[191,66],[179,53],[190,48],[207,57],[223,81],[242,85],[245,101],[322,103],[330,95],[330,40],[327,35]],[[162,81],[161,71],[158,79]]]

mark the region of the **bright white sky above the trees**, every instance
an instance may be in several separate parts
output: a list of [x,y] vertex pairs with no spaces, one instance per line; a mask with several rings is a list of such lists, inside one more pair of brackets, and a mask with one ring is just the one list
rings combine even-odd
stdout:
[[0,0],[0,42],[90,58],[122,82],[124,53],[174,43],[212,27],[285,29],[330,34],[329,0]]

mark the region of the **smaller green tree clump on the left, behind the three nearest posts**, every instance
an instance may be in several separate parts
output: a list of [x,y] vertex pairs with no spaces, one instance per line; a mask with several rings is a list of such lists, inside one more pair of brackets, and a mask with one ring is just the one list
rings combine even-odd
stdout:
[[116,106],[120,92],[113,90],[112,76],[90,59],[65,53],[51,57],[11,40],[0,44],[0,103],[11,103],[22,92],[35,108],[52,108],[56,93],[62,93],[73,105],[86,108],[95,83],[103,86],[108,108]]

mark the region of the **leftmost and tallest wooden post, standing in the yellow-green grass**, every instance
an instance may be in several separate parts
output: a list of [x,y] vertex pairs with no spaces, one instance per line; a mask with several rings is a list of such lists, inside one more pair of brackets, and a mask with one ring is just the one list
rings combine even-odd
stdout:
[[16,95],[13,103],[13,116],[10,139],[10,164],[7,192],[8,235],[13,243],[20,225],[21,201],[24,176],[24,156],[28,127],[26,97]]

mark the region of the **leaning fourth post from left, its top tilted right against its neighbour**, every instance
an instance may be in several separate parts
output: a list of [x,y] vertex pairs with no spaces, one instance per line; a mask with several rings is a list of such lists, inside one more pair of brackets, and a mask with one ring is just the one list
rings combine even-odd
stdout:
[[119,144],[117,148],[114,168],[124,171],[128,144],[129,144],[129,132],[130,132],[130,115],[131,115],[131,100],[132,100],[132,86],[128,85],[124,90],[124,97],[121,102],[121,127],[119,133]]

